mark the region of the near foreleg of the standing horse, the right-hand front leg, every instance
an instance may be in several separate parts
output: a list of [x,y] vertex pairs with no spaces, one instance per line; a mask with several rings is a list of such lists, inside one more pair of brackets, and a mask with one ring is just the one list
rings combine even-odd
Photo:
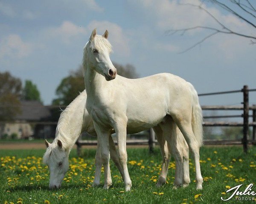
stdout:
[[131,178],[129,176],[128,167],[127,167],[127,152],[126,152],[126,126],[127,119],[119,119],[118,122],[114,125],[117,136],[117,146],[118,146],[118,157],[120,165],[124,172],[124,183],[125,191],[131,190]]

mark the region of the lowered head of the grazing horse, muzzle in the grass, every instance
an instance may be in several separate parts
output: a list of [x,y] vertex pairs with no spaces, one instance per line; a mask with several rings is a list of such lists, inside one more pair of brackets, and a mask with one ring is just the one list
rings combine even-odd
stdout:
[[68,153],[62,147],[60,140],[52,144],[45,140],[45,145],[47,150],[44,153],[43,162],[47,164],[50,172],[49,188],[59,188],[69,167]]

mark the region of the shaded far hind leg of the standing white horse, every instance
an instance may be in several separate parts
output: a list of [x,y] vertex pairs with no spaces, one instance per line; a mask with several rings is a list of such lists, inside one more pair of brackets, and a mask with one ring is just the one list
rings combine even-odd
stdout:
[[168,116],[165,122],[160,123],[160,127],[163,130],[163,136],[168,142],[169,150],[175,159],[174,186],[180,187],[183,183],[183,146],[180,139],[177,137],[177,125],[173,122],[172,118]]

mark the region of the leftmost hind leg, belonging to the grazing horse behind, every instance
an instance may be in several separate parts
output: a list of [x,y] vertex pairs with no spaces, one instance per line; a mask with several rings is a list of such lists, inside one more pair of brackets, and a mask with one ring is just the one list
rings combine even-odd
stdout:
[[157,126],[153,127],[153,129],[154,129],[154,132],[156,133],[157,141],[160,146],[160,150],[161,150],[161,154],[162,154],[162,158],[163,158],[161,173],[160,173],[160,176],[158,177],[158,181],[157,181],[157,187],[160,187],[166,183],[166,177],[167,177],[167,173],[168,173],[168,167],[169,167],[171,154],[170,154],[166,139],[163,136],[163,131],[160,128],[160,126],[157,125]]

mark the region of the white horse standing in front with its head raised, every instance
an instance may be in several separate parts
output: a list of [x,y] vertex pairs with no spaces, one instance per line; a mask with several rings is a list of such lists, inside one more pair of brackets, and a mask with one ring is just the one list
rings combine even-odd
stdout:
[[[119,162],[124,170],[125,190],[131,189],[127,168],[126,134],[154,127],[172,145],[171,130],[179,127],[195,158],[197,189],[202,189],[199,147],[202,144],[202,111],[195,88],[172,74],[156,74],[141,79],[127,79],[116,75],[107,40],[93,30],[84,48],[83,68],[87,92],[86,108],[93,118],[101,147],[105,186],[111,183],[109,169],[109,135],[117,135]],[[112,80],[114,79],[114,80]],[[173,122],[174,121],[174,122]],[[176,131],[172,131],[175,132]],[[175,148],[175,145],[172,146]],[[175,148],[177,149],[177,148]],[[183,158],[173,151],[177,164]],[[182,185],[182,166],[176,165],[175,185]]]

